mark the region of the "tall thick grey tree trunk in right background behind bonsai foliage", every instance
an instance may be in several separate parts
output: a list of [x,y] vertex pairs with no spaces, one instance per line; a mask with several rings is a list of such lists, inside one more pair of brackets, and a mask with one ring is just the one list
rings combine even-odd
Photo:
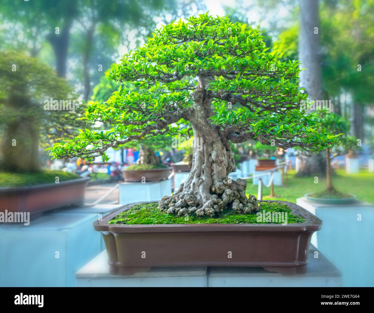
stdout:
[[[299,0],[299,44],[298,54],[300,68],[299,85],[308,97],[322,100],[322,74],[319,45],[319,13],[318,0]],[[297,176],[325,174],[326,160],[321,153],[312,156],[300,156]]]

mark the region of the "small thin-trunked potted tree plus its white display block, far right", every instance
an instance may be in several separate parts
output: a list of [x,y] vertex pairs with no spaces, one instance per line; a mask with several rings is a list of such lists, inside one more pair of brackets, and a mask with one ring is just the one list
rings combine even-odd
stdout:
[[[357,201],[355,195],[336,190],[332,182],[331,160],[348,151],[357,151],[358,140],[346,135],[349,123],[339,115],[326,113],[317,117],[317,121],[326,127],[322,131],[339,134],[340,142],[326,149],[325,189],[307,193],[297,199],[297,204],[324,221],[322,230],[312,236],[312,244],[340,270],[343,286],[355,286],[357,282],[365,284],[360,286],[371,286],[374,244],[368,234],[373,230],[373,204]],[[318,183],[319,177],[310,179]],[[345,188],[344,191],[351,188],[349,178]]]

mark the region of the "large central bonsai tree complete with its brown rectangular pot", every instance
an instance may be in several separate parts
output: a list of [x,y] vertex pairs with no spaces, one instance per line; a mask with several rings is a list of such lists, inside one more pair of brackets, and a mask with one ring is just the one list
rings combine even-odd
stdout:
[[[167,133],[182,119],[203,145],[193,145],[190,174],[174,195],[128,205],[94,223],[104,236],[111,273],[238,264],[305,272],[310,236],[322,222],[295,204],[247,197],[246,180],[228,177],[235,170],[230,142],[255,139],[312,151],[335,142],[334,135],[312,127],[312,114],[300,111],[306,95],[295,82],[298,62],[281,62],[266,50],[256,30],[203,14],[156,30],[147,44],[112,65],[111,78],[131,81],[143,93],[119,91],[107,104],[89,107],[92,122],[111,121],[114,131],[85,131],[52,155],[102,154]],[[287,226],[272,219],[272,213],[286,211]],[[140,258],[142,251],[147,258]]]

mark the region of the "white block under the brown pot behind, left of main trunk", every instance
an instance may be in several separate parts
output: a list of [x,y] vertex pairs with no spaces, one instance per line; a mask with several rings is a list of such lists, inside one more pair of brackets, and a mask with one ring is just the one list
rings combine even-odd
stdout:
[[129,204],[140,201],[160,201],[164,196],[170,196],[171,190],[171,179],[165,179],[156,183],[120,183],[119,203]]

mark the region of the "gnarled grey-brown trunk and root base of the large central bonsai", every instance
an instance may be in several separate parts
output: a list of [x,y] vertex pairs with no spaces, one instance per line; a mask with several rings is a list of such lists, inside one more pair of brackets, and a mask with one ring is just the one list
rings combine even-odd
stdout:
[[226,208],[239,213],[258,211],[257,199],[246,198],[246,180],[235,182],[227,177],[236,169],[234,156],[224,133],[208,120],[212,115],[211,99],[200,93],[194,97],[194,110],[187,117],[194,140],[190,175],[177,193],[162,198],[160,211],[178,216],[191,213],[214,216]]

